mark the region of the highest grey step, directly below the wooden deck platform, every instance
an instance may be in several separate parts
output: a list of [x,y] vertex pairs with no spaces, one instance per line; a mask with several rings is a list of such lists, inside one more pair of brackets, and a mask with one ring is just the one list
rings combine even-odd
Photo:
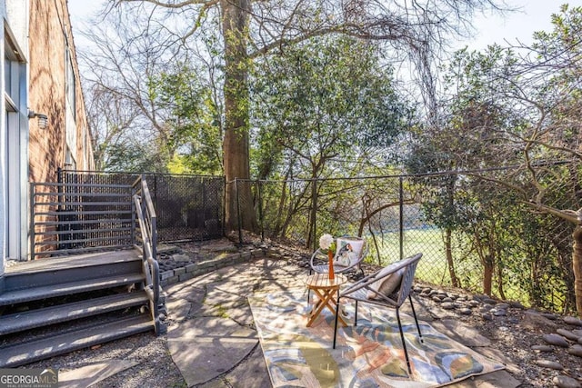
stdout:
[[144,274],[137,273],[7,291],[0,294],[0,306],[38,301],[73,293],[85,293],[87,291],[103,290],[106,288],[113,288],[125,284],[142,283],[144,281]]

